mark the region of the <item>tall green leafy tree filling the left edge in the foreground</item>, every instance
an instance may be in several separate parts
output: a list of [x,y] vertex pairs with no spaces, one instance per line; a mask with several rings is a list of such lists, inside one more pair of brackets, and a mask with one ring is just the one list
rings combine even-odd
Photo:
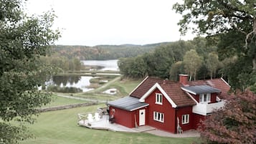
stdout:
[[50,95],[37,90],[41,75],[51,68],[39,62],[49,45],[59,37],[51,29],[54,15],[26,16],[24,1],[0,0],[0,143],[17,143],[27,138],[24,127],[9,121],[33,123],[37,107]]

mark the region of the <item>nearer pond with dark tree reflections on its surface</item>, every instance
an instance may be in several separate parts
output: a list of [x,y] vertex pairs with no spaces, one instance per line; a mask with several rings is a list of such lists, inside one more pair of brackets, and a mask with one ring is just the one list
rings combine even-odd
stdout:
[[77,87],[82,90],[82,92],[87,92],[93,90],[87,88],[90,85],[90,79],[93,77],[87,76],[77,76],[77,75],[67,75],[67,76],[53,76],[50,82],[47,82],[47,85],[57,85],[60,87]]

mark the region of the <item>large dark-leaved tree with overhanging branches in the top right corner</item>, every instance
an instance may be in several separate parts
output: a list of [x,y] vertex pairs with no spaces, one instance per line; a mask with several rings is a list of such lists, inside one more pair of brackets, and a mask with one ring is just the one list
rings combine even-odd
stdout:
[[[184,0],[182,4],[174,4],[174,9],[183,15],[183,19],[179,21],[181,34],[186,34],[190,28],[198,34],[207,34],[208,37],[217,39],[221,59],[237,55],[240,61],[247,62],[230,67],[229,70],[240,67],[238,72],[227,74],[233,87],[242,87],[236,84],[237,81],[245,78],[240,77],[240,73],[246,71],[249,75],[255,75],[255,0]],[[248,82],[249,85],[252,84]]]

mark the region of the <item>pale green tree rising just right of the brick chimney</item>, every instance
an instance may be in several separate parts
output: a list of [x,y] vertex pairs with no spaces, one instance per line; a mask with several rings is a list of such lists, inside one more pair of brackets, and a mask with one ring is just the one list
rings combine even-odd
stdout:
[[197,54],[195,49],[191,49],[186,52],[183,59],[185,71],[190,76],[189,80],[191,80],[192,76],[194,77],[194,80],[196,80],[196,73],[202,66],[202,57]]

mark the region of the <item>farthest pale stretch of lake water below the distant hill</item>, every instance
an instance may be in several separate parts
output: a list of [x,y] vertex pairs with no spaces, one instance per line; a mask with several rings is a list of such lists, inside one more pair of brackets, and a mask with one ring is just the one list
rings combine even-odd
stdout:
[[85,65],[97,65],[103,67],[100,70],[119,70],[118,69],[118,59],[111,60],[82,60]]

